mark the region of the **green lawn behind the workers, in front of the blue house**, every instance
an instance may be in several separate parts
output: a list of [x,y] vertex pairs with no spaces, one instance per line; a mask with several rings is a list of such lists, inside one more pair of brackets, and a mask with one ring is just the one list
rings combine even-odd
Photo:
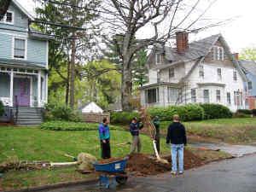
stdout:
[[[120,128],[121,129],[121,128]],[[143,153],[152,154],[153,147],[149,137],[142,135]],[[127,131],[111,131],[113,156],[129,153],[130,145],[115,146],[131,141]],[[162,143],[162,151],[169,148]],[[12,158],[19,160],[70,160],[64,154],[76,156],[85,152],[100,157],[98,131],[47,131],[38,128],[1,127],[0,129],[0,163]]]

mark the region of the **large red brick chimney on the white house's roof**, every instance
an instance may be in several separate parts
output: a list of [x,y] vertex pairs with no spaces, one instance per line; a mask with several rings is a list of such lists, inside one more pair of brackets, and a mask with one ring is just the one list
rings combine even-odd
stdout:
[[177,53],[183,54],[189,48],[189,33],[176,32]]

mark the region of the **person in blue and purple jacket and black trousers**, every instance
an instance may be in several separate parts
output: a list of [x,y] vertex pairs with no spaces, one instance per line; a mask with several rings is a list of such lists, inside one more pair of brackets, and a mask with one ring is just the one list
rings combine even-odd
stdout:
[[102,123],[99,125],[99,135],[101,140],[102,159],[109,159],[111,157],[110,151],[110,132],[108,127],[108,119],[102,119]]

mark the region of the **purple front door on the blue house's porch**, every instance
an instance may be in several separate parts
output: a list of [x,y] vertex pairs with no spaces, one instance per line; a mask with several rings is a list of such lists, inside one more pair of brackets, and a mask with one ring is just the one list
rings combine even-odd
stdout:
[[14,79],[14,102],[18,102],[19,106],[30,106],[30,79]]

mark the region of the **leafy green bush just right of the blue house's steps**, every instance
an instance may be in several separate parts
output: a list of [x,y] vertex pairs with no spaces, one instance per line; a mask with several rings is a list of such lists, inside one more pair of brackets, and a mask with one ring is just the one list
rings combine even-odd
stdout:
[[46,105],[44,111],[44,119],[49,120],[67,120],[67,121],[81,121],[78,112],[75,112],[72,108],[69,108],[63,104],[52,104]]

